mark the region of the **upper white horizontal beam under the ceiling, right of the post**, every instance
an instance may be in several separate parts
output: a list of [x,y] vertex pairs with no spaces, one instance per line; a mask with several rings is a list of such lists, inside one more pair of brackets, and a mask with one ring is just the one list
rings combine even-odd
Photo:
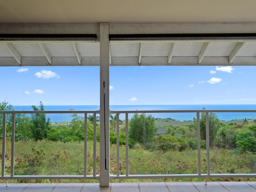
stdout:
[[255,33],[256,23],[110,23],[110,34]]

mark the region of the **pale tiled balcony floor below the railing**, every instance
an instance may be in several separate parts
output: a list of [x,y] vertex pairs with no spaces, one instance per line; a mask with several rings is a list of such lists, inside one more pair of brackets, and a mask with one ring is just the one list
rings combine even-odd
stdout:
[[256,182],[0,184],[0,192],[256,192]]

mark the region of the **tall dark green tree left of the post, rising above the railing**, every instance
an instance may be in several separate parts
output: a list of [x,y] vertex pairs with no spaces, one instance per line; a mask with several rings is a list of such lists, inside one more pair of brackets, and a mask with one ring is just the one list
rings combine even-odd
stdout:
[[[41,101],[39,109],[34,105],[31,107],[34,111],[44,111],[44,104]],[[46,119],[46,115],[44,113],[34,113],[31,114],[30,122],[33,139],[37,141],[46,138],[47,132],[50,129],[50,118]]]

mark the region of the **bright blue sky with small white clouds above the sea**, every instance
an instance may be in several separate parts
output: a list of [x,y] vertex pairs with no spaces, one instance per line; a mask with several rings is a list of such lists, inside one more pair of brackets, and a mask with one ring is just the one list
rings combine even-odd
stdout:
[[[110,105],[256,104],[256,66],[112,66]],[[0,67],[0,102],[99,105],[100,68]]]

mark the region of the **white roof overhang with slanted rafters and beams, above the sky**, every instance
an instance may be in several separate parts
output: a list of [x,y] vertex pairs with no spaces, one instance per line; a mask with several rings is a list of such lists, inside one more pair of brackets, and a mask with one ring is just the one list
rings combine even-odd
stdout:
[[[26,36],[18,40],[9,36],[0,39],[0,66],[100,65],[100,33],[95,24],[6,26],[0,25],[0,35],[20,32]],[[111,66],[256,65],[256,24],[110,26]],[[65,28],[67,34],[54,33]],[[28,38],[29,31],[34,34],[32,39]],[[42,36],[41,31],[45,32]],[[72,35],[73,32],[76,34]],[[48,34],[53,35],[49,38]]]

